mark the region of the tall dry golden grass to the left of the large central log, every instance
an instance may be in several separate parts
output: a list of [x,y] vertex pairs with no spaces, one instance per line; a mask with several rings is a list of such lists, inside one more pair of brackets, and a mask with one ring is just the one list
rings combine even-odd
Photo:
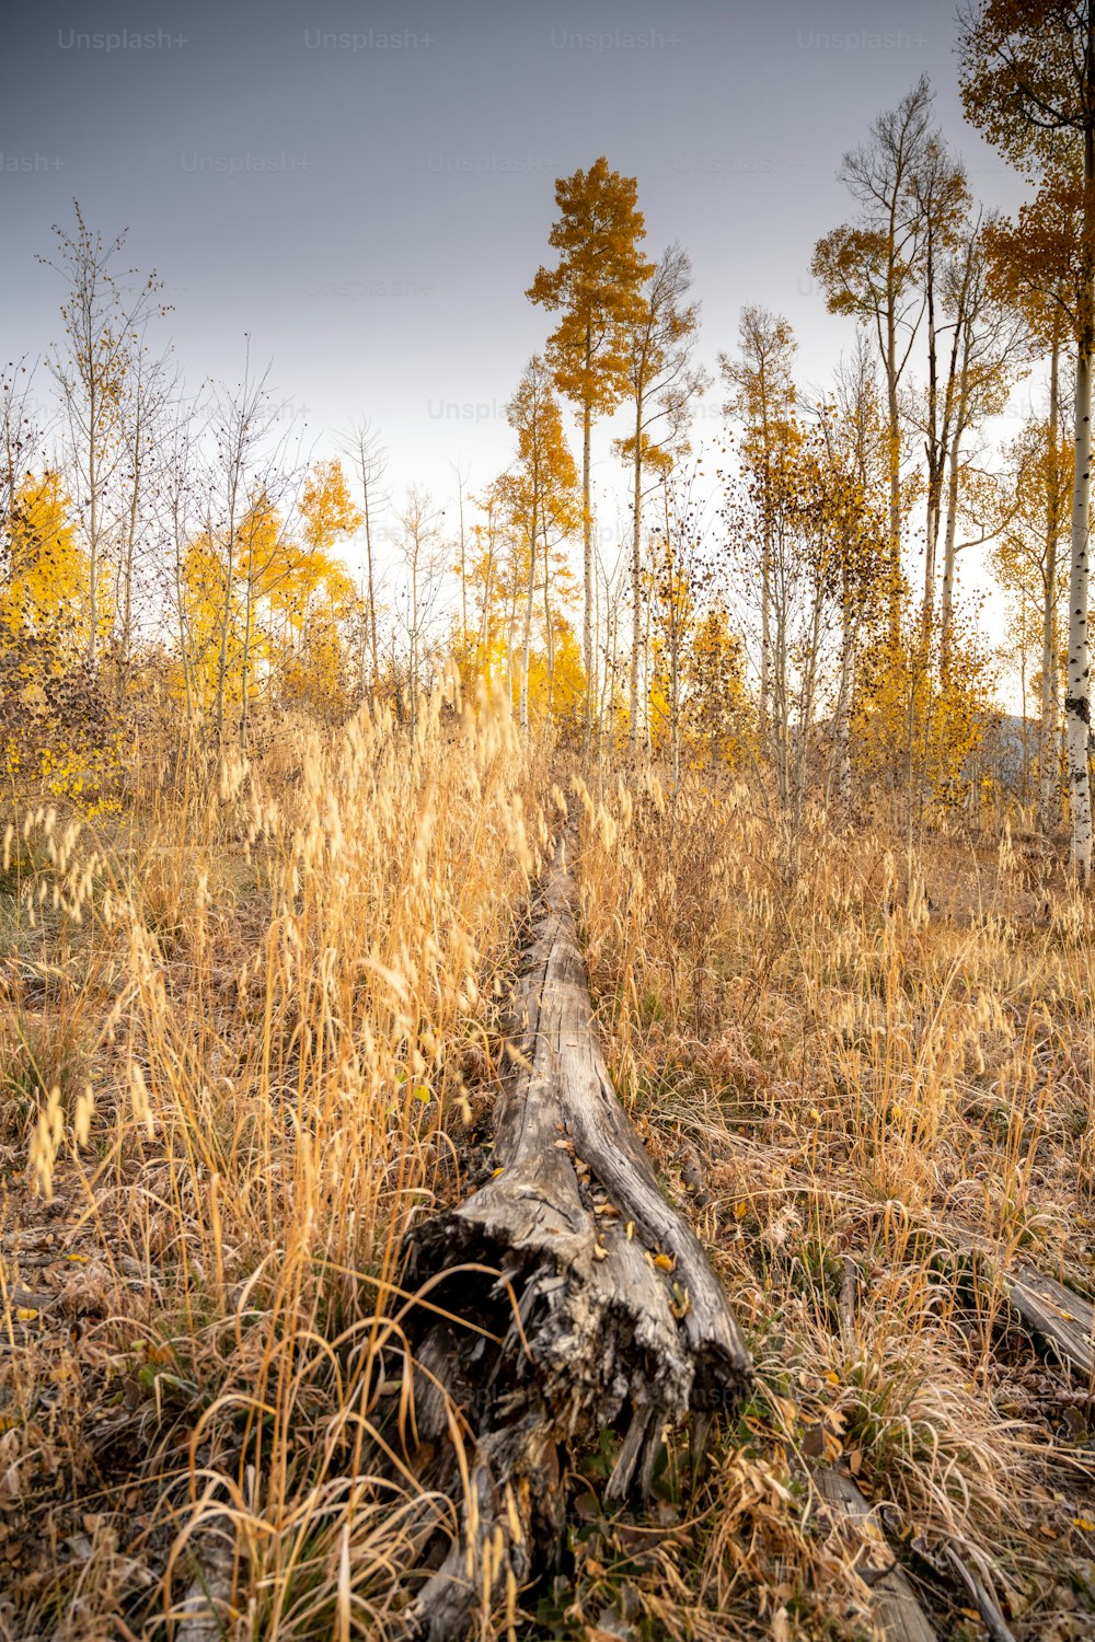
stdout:
[[373,1635],[453,1520],[402,1238],[494,1076],[535,755],[435,703],[156,773],[7,844],[0,1632],[164,1634],[197,1570],[227,1635]]

